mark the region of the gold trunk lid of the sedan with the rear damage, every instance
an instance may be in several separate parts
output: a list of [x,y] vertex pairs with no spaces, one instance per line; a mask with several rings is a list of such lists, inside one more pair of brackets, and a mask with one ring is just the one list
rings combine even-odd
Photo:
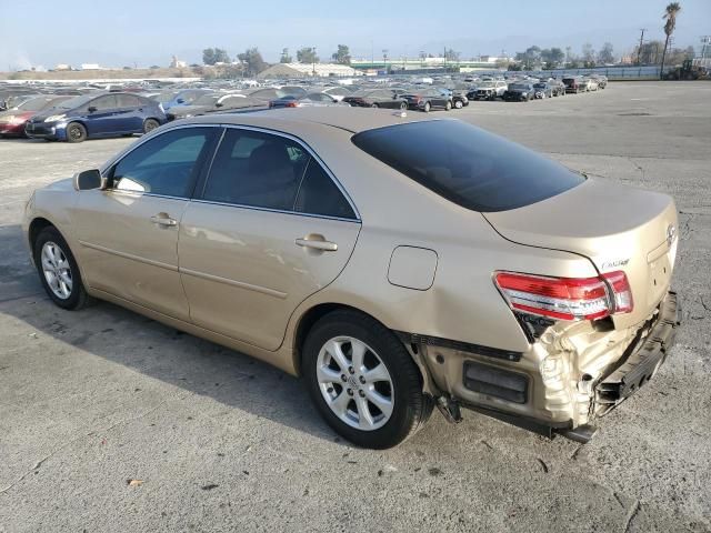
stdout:
[[645,320],[669,290],[678,220],[665,194],[588,179],[541,202],[483,215],[510,241],[584,255],[600,273],[623,271],[634,310],[613,315],[618,329]]

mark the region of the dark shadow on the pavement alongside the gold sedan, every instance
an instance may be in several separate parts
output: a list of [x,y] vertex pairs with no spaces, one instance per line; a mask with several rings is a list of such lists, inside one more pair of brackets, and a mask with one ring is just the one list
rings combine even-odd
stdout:
[[108,302],[76,312],[61,310],[44,293],[19,225],[0,227],[0,313],[143,375],[340,442],[300,380]]

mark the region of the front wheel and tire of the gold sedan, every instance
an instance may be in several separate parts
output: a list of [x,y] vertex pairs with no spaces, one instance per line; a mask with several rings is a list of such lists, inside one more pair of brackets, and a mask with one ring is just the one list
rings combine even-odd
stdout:
[[34,265],[49,298],[71,311],[87,305],[89,296],[69,244],[53,227],[40,231],[33,244]]

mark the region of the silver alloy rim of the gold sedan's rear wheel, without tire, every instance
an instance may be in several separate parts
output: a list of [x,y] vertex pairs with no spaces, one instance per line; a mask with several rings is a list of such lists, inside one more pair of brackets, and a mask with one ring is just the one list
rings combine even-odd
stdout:
[[392,378],[380,356],[352,336],[323,344],[316,365],[321,395],[342,422],[361,431],[388,423],[393,413]]

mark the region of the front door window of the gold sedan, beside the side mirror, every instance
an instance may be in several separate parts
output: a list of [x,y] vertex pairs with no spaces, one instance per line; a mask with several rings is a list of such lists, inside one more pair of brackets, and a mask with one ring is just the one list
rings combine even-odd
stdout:
[[213,128],[184,128],[139,145],[114,167],[113,189],[189,198]]

